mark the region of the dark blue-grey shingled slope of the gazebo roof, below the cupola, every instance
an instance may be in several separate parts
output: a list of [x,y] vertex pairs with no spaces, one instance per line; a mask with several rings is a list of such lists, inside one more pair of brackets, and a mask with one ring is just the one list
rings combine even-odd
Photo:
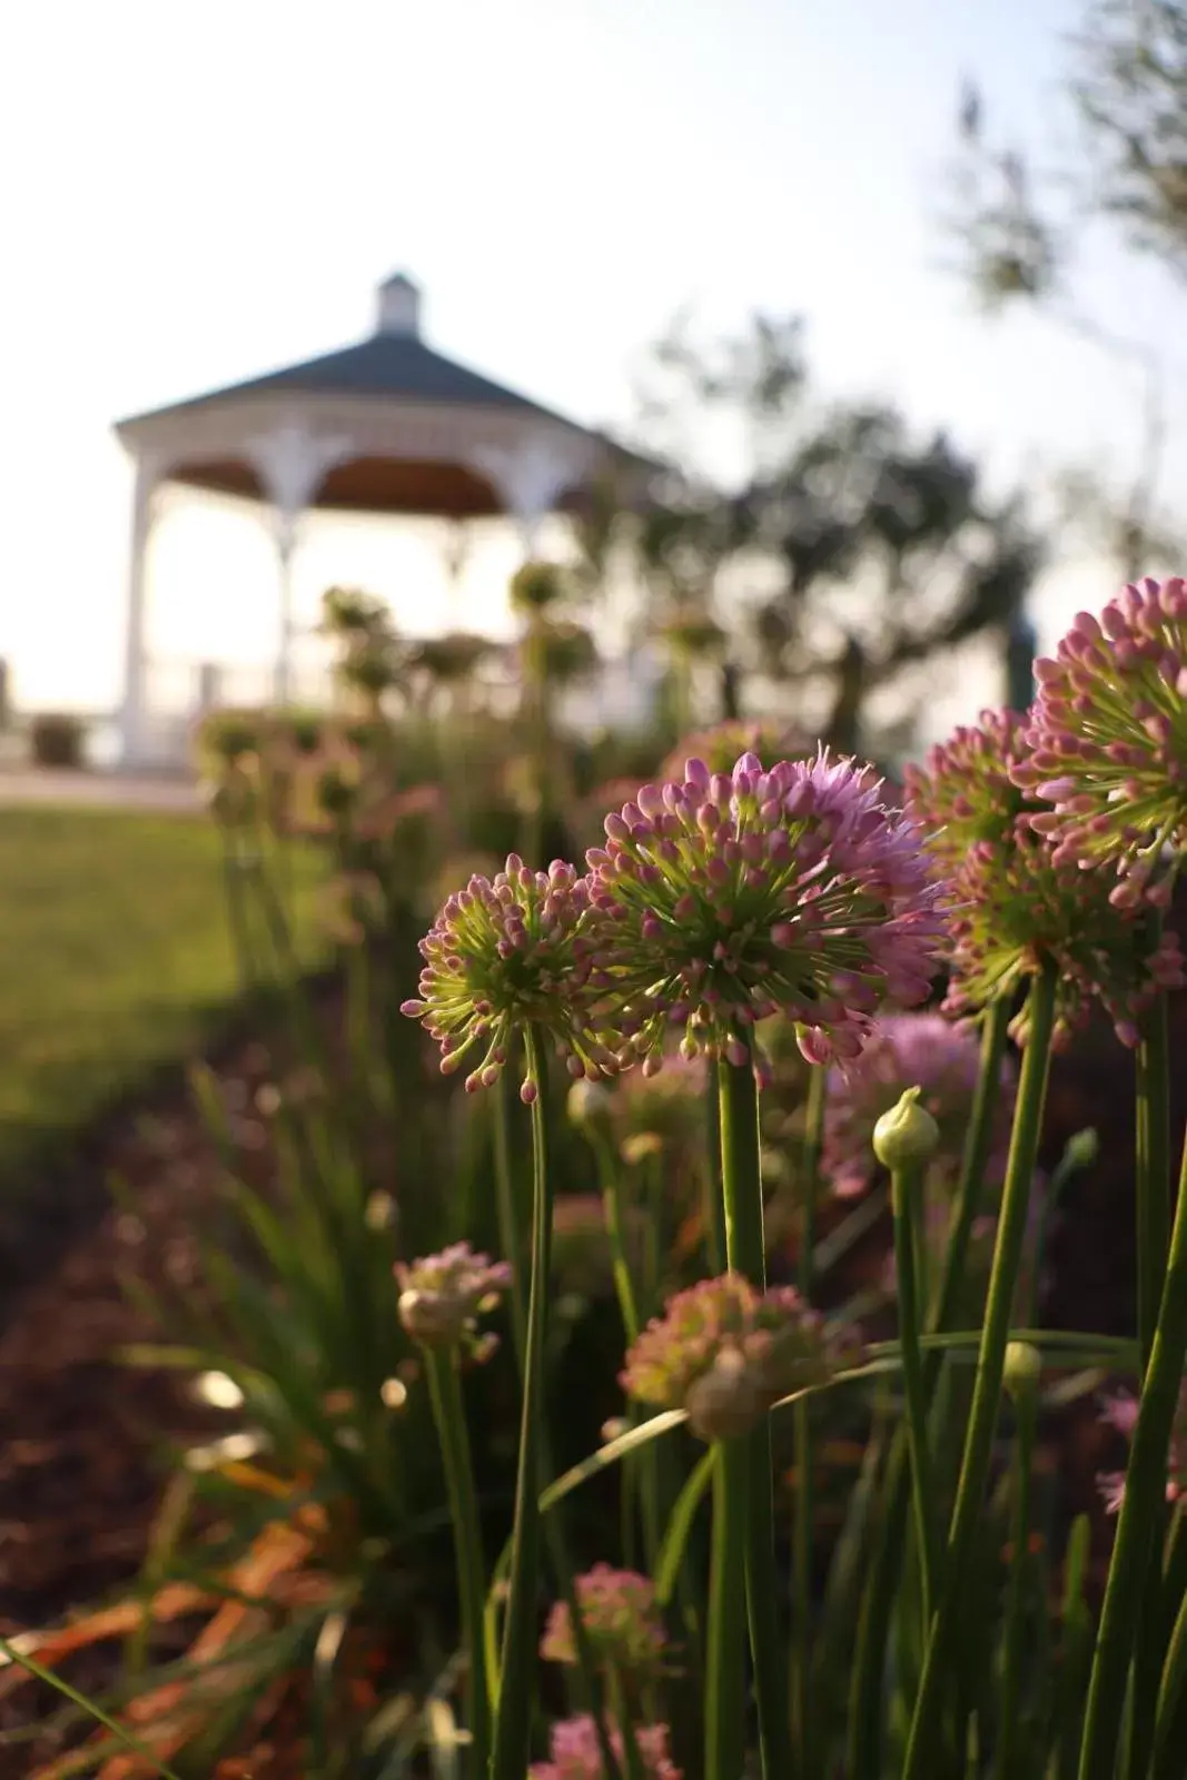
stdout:
[[[358,345],[343,347],[338,352],[326,352],[322,358],[310,358],[303,365],[287,365],[263,377],[251,377],[247,383],[233,383],[224,390],[212,390],[185,402],[169,402],[166,408],[153,408],[148,413],[130,415],[130,420],[148,420],[153,415],[176,413],[185,408],[205,408],[210,402],[230,400],[238,395],[263,395],[272,390],[292,390],[294,393],[317,395],[395,395],[413,402],[450,402],[472,408],[516,408],[529,413],[545,415],[548,420],[566,420],[550,408],[541,408],[527,395],[505,390],[500,383],[491,383],[477,370],[466,370],[450,358],[441,358],[411,333],[377,333]],[[121,422],[125,425],[126,422]]]

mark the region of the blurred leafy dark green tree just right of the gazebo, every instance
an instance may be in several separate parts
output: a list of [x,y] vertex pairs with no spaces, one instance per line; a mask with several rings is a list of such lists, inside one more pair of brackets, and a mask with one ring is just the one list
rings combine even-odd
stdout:
[[904,669],[982,634],[1005,646],[1041,559],[1021,500],[993,502],[972,459],[892,408],[812,402],[797,319],[710,347],[680,322],[648,368],[644,436],[678,468],[630,536],[676,733],[712,662],[723,716],[749,668],[858,749],[870,696]]

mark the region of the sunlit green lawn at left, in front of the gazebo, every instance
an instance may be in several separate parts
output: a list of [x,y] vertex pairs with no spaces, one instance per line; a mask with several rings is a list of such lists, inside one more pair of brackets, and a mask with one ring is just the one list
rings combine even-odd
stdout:
[[[299,862],[310,963],[315,872]],[[208,819],[0,808],[0,1175],[192,1054],[237,997]]]

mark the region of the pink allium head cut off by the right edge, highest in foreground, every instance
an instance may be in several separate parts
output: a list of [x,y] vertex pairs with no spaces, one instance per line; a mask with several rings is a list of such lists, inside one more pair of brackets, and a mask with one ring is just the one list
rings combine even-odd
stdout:
[[1059,858],[1119,872],[1114,901],[1166,906],[1187,853],[1187,582],[1130,584],[1036,664],[1016,783],[1054,808]]

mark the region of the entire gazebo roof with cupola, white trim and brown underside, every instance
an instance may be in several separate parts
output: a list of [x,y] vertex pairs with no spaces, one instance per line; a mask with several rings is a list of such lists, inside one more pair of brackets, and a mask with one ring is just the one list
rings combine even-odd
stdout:
[[311,454],[313,470],[301,500],[287,504],[356,513],[498,514],[518,509],[507,482],[516,475],[536,479],[537,493],[543,477],[546,504],[564,509],[580,502],[598,465],[614,463],[632,481],[657,468],[436,352],[420,333],[420,290],[402,272],[377,297],[370,338],[130,415],[117,436],[190,488],[278,498],[276,436],[303,434],[311,443],[299,440],[299,454]]

